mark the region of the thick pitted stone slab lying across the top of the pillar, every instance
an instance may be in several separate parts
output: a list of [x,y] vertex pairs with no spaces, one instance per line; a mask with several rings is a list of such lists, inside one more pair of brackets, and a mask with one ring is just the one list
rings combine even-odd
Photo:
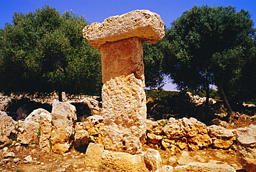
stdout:
[[102,44],[140,37],[149,44],[163,39],[165,24],[159,15],[149,10],[134,10],[124,15],[104,19],[102,23],[92,23],[83,29],[91,47],[100,49]]

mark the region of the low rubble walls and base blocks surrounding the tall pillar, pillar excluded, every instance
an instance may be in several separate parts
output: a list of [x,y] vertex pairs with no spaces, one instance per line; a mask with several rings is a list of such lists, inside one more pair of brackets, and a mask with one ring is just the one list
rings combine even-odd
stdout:
[[[55,103],[56,104],[56,103]],[[52,113],[39,108],[26,120],[15,122],[6,113],[0,115],[1,148],[7,145],[33,145],[38,144],[44,151],[54,151],[64,153],[72,147],[86,147],[85,163],[98,167],[101,164],[118,171],[192,171],[197,169],[225,169],[225,171],[235,171],[227,164],[216,164],[214,161],[202,160],[200,157],[190,157],[189,151],[197,151],[206,147],[213,149],[237,149],[237,159],[247,171],[255,171],[255,132],[256,126],[250,125],[247,128],[226,129],[221,126],[205,126],[205,124],[194,118],[183,118],[175,120],[159,120],[156,122],[147,120],[147,134],[143,144],[152,147],[147,151],[131,154],[118,151],[104,150],[102,133],[104,132],[104,119],[100,115],[92,115],[84,122],[75,122],[73,107],[71,104],[58,102],[55,106],[65,111],[56,111],[56,117],[60,115],[61,124],[74,123],[66,131],[53,131],[55,124]],[[66,108],[63,108],[66,107]],[[57,112],[58,115],[57,115]],[[69,115],[62,115],[68,113]],[[70,118],[68,120],[68,118]],[[53,133],[54,132],[54,133]],[[58,134],[58,135],[57,135]],[[15,137],[17,135],[17,137]],[[54,142],[53,142],[54,141]],[[69,149],[67,149],[67,147]],[[163,166],[163,160],[158,149],[166,151],[182,152],[179,159],[169,160]],[[221,155],[219,155],[221,156]],[[171,158],[171,157],[170,157]],[[172,164],[178,166],[173,167]],[[214,166],[218,166],[214,169]]]

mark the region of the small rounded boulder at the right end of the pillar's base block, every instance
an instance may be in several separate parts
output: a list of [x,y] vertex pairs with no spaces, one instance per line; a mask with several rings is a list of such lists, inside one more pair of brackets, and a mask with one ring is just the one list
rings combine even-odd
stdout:
[[149,171],[156,171],[162,165],[161,155],[154,149],[147,149],[144,154],[144,161]]

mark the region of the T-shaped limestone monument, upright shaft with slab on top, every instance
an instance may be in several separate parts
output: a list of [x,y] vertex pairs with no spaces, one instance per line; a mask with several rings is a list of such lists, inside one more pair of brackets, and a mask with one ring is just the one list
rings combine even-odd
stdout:
[[164,23],[154,12],[134,10],[92,23],[83,35],[102,56],[104,147],[140,153],[147,115],[142,45],[163,39]]

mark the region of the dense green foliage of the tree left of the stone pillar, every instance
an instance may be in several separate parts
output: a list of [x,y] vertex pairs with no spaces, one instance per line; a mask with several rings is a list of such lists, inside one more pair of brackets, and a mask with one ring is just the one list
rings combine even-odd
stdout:
[[82,37],[88,22],[44,6],[0,29],[0,90],[100,95],[100,52]]

